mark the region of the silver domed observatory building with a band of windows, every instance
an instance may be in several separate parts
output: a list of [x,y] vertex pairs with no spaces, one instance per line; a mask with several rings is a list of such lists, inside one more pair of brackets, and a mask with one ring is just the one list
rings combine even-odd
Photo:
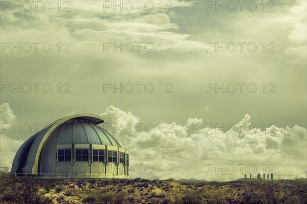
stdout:
[[11,173],[56,179],[128,178],[129,151],[97,124],[103,117],[58,119],[18,149]]

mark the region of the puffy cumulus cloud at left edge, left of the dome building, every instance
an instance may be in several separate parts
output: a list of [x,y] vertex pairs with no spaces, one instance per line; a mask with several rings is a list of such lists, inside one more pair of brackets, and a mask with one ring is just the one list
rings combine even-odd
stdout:
[[[7,103],[0,105],[0,110],[0,126],[1,133],[3,133],[3,127],[7,130],[7,125],[13,124],[16,116],[11,110],[10,105]],[[11,139],[5,134],[0,134],[0,164],[6,166],[8,165],[10,168],[10,165],[13,163],[14,156],[23,142],[24,141],[22,140]]]

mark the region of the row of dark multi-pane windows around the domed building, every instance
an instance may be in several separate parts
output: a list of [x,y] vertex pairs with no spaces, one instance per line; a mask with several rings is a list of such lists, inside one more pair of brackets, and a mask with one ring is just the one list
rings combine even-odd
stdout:
[[[75,161],[76,162],[88,162],[89,161],[89,149],[76,149]],[[125,162],[125,153],[119,152],[119,163],[128,164]],[[93,149],[93,162],[105,162],[104,150]],[[128,155],[127,158],[128,160]],[[71,161],[71,149],[58,149],[58,162],[70,162]],[[107,151],[107,161],[117,162],[117,151]]]

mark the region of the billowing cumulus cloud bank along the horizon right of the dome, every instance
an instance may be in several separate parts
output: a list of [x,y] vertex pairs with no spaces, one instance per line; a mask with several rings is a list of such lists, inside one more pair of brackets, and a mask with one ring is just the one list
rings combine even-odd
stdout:
[[[101,116],[121,123],[138,123],[140,118],[113,106]],[[306,129],[271,126],[266,131],[247,130],[251,117],[236,123],[241,129],[228,132],[201,128],[202,119],[189,118],[186,125],[173,122],[171,131],[154,130],[127,134],[109,130],[130,151],[131,176],[174,177],[227,181],[245,173],[270,173],[283,178],[306,176]],[[243,125],[244,124],[244,125]],[[127,140],[126,138],[129,138]],[[143,165],[143,166],[141,166]],[[146,166],[147,165],[147,166]],[[295,168],[294,168],[295,166]],[[155,168],[151,172],[152,167]],[[167,168],[166,168],[167,167]],[[140,174],[137,172],[140,168]],[[161,170],[164,168],[164,173]]]

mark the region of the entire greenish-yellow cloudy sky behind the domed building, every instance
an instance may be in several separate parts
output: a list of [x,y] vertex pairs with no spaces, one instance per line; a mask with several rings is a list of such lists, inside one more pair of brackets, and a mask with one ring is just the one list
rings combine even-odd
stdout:
[[93,113],[135,128],[109,130],[155,167],[134,176],[306,177],[305,1],[56,3],[1,1],[1,164],[34,124]]

